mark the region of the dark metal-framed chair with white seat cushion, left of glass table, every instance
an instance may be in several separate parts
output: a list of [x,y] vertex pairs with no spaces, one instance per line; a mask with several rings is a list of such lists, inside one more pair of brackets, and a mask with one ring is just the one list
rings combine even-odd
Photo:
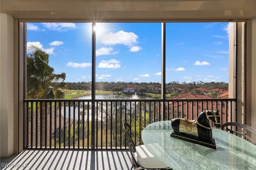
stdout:
[[172,168],[163,164],[154,155],[152,155],[145,145],[135,146],[131,138],[130,125],[128,123],[124,123],[123,126],[131,152],[132,168],[135,170],[172,170]]

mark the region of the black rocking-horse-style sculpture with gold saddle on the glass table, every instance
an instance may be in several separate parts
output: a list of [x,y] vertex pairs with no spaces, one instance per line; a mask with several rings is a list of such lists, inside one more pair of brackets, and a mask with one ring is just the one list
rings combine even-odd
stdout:
[[197,119],[193,121],[183,118],[172,119],[171,125],[173,132],[171,136],[216,149],[209,120],[211,120],[217,128],[221,127],[218,108],[215,111],[203,111],[198,115]]

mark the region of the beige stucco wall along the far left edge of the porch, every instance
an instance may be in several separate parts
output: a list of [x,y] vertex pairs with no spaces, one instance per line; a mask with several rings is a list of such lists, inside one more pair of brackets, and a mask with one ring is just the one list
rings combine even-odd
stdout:
[[13,154],[13,18],[0,14],[0,152]]

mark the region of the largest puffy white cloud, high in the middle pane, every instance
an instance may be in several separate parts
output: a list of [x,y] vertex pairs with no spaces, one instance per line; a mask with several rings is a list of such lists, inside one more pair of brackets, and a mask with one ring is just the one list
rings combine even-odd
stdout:
[[133,32],[118,31],[115,33],[108,33],[102,36],[101,42],[105,45],[123,44],[129,47],[134,46],[137,42],[138,36]]

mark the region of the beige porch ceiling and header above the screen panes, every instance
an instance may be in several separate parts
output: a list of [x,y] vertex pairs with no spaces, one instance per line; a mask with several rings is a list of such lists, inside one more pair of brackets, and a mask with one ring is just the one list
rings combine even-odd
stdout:
[[22,19],[170,20],[256,18],[255,0],[1,0]]

